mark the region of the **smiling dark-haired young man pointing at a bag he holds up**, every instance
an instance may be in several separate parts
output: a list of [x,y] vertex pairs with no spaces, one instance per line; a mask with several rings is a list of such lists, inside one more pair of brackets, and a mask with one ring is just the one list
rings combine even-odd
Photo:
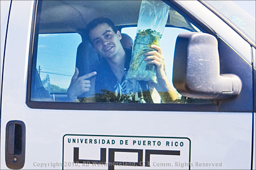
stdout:
[[[166,78],[161,47],[152,45],[151,47],[156,51],[144,54],[146,56],[144,61],[147,64],[156,65],[158,83],[137,81],[125,79],[132,51],[122,47],[120,42],[122,34],[117,31],[109,18],[93,19],[87,26],[87,36],[100,56],[100,66],[95,72],[79,78],[77,78],[78,69],[76,68],[72,83],[68,88],[70,101],[86,91],[95,94],[96,101],[166,103],[177,99],[175,89]],[[93,76],[95,77],[91,83],[88,78]]]

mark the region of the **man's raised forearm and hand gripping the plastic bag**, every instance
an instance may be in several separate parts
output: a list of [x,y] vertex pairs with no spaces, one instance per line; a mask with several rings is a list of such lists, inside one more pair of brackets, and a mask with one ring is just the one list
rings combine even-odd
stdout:
[[147,64],[156,65],[157,83],[154,83],[154,87],[161,96],[163,103],[176,101],[176,99],[178,99],[176,90],[171,85],[171,83],[169,83],[164,70],[165,64],[162,49],[156,45],[151,45],[151,47],[156,49],[156,51],[150,51],[146,53],[145,56],[147,56],[147,58],[145,58],[144,61],[146,61]]

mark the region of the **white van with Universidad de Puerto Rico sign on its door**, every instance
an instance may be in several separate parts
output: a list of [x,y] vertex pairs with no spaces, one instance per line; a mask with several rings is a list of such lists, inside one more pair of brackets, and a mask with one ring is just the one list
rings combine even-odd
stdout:
[[75,68],[101,69],[88,22],[134,41],[142,1],[1,1],[1,169],[255,169],[255,18],[232,1],[164,3],[178,99],[140,103],[67,89]]

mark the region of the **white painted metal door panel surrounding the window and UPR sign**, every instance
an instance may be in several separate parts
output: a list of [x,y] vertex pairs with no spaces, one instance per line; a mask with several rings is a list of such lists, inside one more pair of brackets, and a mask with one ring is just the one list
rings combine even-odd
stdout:
[[[4,141],[5,126],[11,120],[21,120],[26,124],[24,169],[61,169],[53,163],[62,163],[66,134],[189,138],[191,169],[213,169],[213,166],[206,166],[207,163],[221,164],[214,169],[250,169],[252,113],[28,108],[26,80],[33,1],[14,1],[12,8],[4,66],[1,169],[8,169]],[[65,156],[72,159],[73,154]],[[41,163],[47,166],[42,168]],[[184,167],[180,164],[175,168]]]

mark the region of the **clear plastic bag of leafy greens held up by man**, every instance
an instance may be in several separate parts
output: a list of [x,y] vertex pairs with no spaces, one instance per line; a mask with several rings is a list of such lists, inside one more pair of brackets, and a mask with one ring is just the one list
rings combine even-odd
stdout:
[[163,1],[142,1],[137,34],[132,47],[132,59],[127,79],[156,80],[156,66],[144,61],[145,53],[154,51],[152,44],[159,46],[169,14],[169,6]]

